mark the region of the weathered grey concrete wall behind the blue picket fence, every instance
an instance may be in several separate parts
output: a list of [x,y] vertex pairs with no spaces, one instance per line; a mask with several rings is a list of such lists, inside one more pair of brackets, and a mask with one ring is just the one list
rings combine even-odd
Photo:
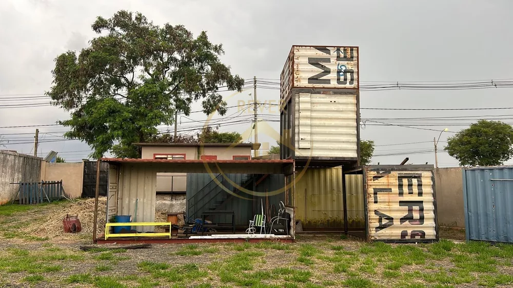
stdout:
[[0,204],[12,201],[19,185],[9,183],[41,181],[41,158],[0,151]]

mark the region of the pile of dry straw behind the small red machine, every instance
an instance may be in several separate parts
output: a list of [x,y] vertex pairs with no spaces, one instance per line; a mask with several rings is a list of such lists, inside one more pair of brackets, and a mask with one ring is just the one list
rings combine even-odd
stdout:
[[[107,209],[107,197],[100,197],[98,199],[98,223],[96,233],[97,235],[105,232],[105,211]],[[44,223],[34,223],[23,229],[24,232],[39,237],[62,237],[74,233],[65,233],[63,228],[63,219],[66,214],[78,215],[82,232],[78,234],[92,235],[93,232],[93,219],[94,219],[94,198],[85,200],[74,200],[70,202],[61,210],[46,211]]]

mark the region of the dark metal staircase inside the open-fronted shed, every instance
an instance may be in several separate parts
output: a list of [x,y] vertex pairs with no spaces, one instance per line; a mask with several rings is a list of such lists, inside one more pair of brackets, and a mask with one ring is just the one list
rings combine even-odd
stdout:
[[[247,174],[240,183],[235,182],[238,186],[248,188],[250,184],[256,184],[259,179],[263,178],[263,174]],[[218,183],[230,189],[234,194],[240,194],[241,191],[233,187],[223,175],[218,175],[215,179],[205,185],[198,193],[194,194],[187,200],[187,214],[189,218],[195,219],[201,216],[203,211],[221,210],[227,203],[231,201],[233,195],[221,188]]]

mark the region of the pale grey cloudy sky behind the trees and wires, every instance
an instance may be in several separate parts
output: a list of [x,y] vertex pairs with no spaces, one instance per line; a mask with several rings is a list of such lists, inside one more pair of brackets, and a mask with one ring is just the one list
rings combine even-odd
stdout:
[[[319,4],[320,6],[315,6]],[[513,2],[511,1],[60,1],[4,0],[0,2],[0,127],[45,125],[66,119],[68,114],[56,107],[12,108],[16,103],[47,103],[40,96],[49,90],[53,59],[67,50],[80,50],[95,36],[90,25],[96,16],[110,17],[118,10],[139,11],[154,23],[183,24],[194,34],[206,30],[212,42],[223,43],[223,61],[232,72],[244,78],[277,81],[292,45],[336,45],[360,47],[361,84],[377,81],[469,81],[511,79],[513,72]],[[437,82],[443,83],[443,82]],[[377,108],[478,108],[513,107],[510,88],[461,91],[362,91],[361,107]],[[228,100],[229,105],[249,100],[245,91]],[[226,97],[231,94],[227,94]],[[25,97],[25,98],[23,98]],[[259,101],[278,101],[279,90],[260,89]],[[23,100],[22,100],[23,99]],[[11,105],[11,106],[8,106]],[[194,105],[192,110],[198,110]],[[269,106],[263,114],[279,115]],[[232,108],[228,115],[239,115]],[[452,131],[468,126],[479,118],[509,115],[504,110],[368,110],[362,118],[435,117],[419,123],[402,119],[400,126],[362,126],[362,139],[374,140],[382,155],[372,163],[393,164],[409,157],[409,163],[434,163],[433,137],[449,128],[440,139],[442,146]],[[237,119],[243,119],[243,113]],[[466,120],[447,118],[467,116]],[[480,117],[481,116],[481,117]],[[512,115],[513,116],[513,115]],[[205,120],[202,113],[189,118]],[[215,116],[214,116],[215,118]],[[266,119],[276,116],[263,116]],[[501,116],[513,122],[511,116]],[[249,115],[248,115],[249,119]],[[179,129],[198,126],[184,117]],[[386,122],[386,120],[380,120]],[[392,120],[390,120],[392,121]],[[389,121],[389,123],[391,123]],[[417,121],[417,122],[416,122]],[[185,123],[184,123],[185,122]],[[269,124],[278,130],[277,122]],[[376,124],[374,122],[374,124]],[[243,132],[250,123],[222,126],[221,130]],[[417,126],[424,125],[424,126]],[[459,126],[458,126],[459,125]],[[432,130],[429,130],[432,129]],[[0,128],[10,140],[6,147],[32,153],[35,127]],[[50,150],[61,152],[68,160],[87,157],[88,146],[79,141],[62,140],[64,127],[40,127],[40,156]],[[250,139],[251,140],[251,139]],[[260,142],[272,141],[264,135]],[[422,142],[415,144],[404,144]],[[18,144],[20,143],[20,144]],[[21,144],[25,143],[25,144]],[[397,145],[403,144],[403,145]],[[385,146],[383,146],[385,145]],[[4,147],[5,149],[5,147]],[[405,155],[411,152],[412,154]],[[442,167],[457,161],[439,154]]]

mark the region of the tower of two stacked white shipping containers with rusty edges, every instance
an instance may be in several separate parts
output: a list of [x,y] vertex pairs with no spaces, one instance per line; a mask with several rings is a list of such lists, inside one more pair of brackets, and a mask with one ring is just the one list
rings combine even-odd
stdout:
[[358,47],[292,47],[280,78],[282,159],[331,167],[358,161],[358,61]]

